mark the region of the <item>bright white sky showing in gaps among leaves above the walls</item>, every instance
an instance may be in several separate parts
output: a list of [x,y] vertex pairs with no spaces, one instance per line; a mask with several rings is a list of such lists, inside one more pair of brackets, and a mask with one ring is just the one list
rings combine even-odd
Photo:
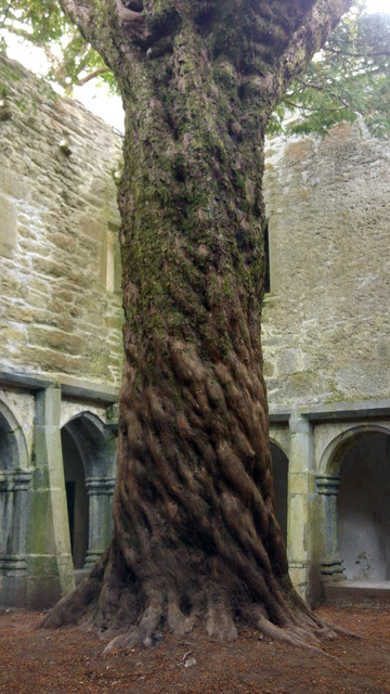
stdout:
[[[366,0],[367,11],[388,12],[390,13],[390,0]],[[23,63],[28,69],[44,74],[47,64],[43,51],[38,48],[28,47],[17,37],[9,37],[8,55],[20,63]],[[75,99],[81,101],[89,111],[103,118],[106,123],[114,126],[121,132],[123,131],[123,111],[119,97],[108,94],[107,87],[99,83],[98,80],[91,80],[83,87],[76,87],[74,90]]]

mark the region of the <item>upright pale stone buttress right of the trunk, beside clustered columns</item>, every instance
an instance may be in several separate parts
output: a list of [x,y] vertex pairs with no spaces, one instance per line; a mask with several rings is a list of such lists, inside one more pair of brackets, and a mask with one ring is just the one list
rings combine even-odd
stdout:
[[313,437],[308,420],[292,413],[289,420],[287,544],[289,573],[298,592],[308,599],[311,560],[310,502],[314,491]]

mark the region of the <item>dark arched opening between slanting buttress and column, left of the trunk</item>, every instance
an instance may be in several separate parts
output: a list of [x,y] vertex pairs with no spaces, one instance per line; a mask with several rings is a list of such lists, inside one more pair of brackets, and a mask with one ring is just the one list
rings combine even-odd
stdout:
[[75,568],[82,568],[88,550],[89,501],[81,452],[69,427],[61,430],[66,503],[72,556]]

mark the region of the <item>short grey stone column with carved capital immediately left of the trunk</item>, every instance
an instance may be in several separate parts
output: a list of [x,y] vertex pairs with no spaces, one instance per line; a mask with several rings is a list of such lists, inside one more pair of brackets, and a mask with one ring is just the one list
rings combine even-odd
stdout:
[[87,477],[89,538],[84,568],[90,568],[107,548],[113,532],[113,477]]

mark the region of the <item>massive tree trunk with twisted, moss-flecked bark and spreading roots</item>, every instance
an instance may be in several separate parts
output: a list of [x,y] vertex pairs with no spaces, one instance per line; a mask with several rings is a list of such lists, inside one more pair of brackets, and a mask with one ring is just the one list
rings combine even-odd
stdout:
[[[49,2],[56,8],[56,3]],[[261,371],[264,133],[350,0],[62,0],[126,112],[126,364],[112,542],[46,618],[304,643],[274,513]]]

